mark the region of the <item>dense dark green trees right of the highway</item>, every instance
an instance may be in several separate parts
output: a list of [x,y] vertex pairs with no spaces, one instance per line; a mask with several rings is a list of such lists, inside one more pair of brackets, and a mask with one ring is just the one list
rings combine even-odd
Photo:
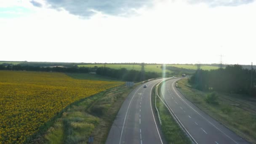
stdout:
[[[251,86],[251,72],[253,85]],[[228,93],[250,94],[256,96],[256,71],[243,69],[241,65],[227,66],[225,69],[197,70],[189,83],[203,91],[220,91]]]

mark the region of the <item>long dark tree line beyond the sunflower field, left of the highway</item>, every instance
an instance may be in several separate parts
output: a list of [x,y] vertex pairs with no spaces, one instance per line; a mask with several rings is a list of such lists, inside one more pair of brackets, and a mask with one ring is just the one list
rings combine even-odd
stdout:
[[[0,64],[0,70],[25,70],[25,71],[41,71],[41,72],[67,72],[67,73],[89,73],[96,72],[97,75],[112,77],[122,81],[141,81],[141,71],[122,69],[111,69],[109,67],[35,67],[30,65],[5,65]],[[161,77],[156,72],[145,72],[144,79],[152,79]]]

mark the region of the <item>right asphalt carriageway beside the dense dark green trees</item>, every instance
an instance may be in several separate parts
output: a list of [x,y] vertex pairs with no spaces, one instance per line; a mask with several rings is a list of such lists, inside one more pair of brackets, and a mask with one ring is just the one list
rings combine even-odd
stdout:
[[167,80],[161,91],[169,109],[195,144],[248,144],[188,101],[176,88],[179,79]]

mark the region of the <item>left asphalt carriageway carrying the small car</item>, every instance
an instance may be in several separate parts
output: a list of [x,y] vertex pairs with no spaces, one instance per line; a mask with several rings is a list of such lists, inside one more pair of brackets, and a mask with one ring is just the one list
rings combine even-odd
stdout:
[[163,79],[152,80],[135,88],[123,102],[109,131],[106,144],[163,144],[153,115],[151,90]]

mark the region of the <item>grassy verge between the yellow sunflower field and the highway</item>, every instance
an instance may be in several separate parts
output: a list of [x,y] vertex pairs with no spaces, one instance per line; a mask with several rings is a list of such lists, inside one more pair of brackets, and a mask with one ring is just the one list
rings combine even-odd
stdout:
[[93,144],[104,144],[118,110],[132,90],[122,85],[69,105],[28,143],[86,144],[89,136],[94,136]]

